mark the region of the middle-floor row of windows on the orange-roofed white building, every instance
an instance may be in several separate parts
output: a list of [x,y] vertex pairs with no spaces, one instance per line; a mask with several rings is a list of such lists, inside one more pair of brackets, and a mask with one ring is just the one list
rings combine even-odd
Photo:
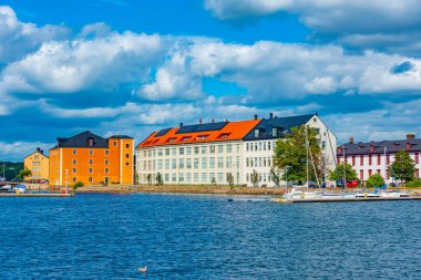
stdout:
[[[235,159],[235,163],[233,162]],[[172,158],[170,159],[154,159],[142,160],[142,170],[162,170],[162,169],[191,169],[191,168],[233,168],[233,166],[239,167],[239,156],[235,158],[233,156],[227,157],[195,157],[195,158]]]

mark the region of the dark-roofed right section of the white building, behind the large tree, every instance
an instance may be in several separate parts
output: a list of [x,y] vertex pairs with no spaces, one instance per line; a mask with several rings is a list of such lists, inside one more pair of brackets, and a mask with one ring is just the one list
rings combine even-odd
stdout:
[[273,114],[270,114],[268,120],[261,120],[261,122],[244,137],[243,153],[245,160],[243,169],[245,172],[245,182],[248,185],[251,184],[251,174],[256,170],[259,174],[261,185],[274,186],[270,178],[270,167],[273,165],[271,158],[276,142],[289,133],[290,128],[299,127],[302,124],[314,127],[319,132],[322,155],[327,163],[326,174],[328,170],[335,169],[336,136],[326,124],[321,122],[317,114],[289,117],[274,117]]

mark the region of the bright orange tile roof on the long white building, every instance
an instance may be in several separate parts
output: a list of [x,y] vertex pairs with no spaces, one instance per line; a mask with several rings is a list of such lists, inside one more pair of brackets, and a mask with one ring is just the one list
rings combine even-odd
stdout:
[[193,133],[177,133],[179,127],[171,128],[163,136],[152,133],[146,139],[137,145],[136,149],[163,145],[179,145],[192,143],[207,143],[222,141],[243,139],[261,120],[228,122],[223,128],[216,131],[203,131]]

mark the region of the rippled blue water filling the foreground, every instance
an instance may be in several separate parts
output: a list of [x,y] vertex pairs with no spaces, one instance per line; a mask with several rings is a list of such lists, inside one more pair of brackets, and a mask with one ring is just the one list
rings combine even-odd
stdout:
[[227,198],[0,198],[0,279],[421,279],[420,201]]

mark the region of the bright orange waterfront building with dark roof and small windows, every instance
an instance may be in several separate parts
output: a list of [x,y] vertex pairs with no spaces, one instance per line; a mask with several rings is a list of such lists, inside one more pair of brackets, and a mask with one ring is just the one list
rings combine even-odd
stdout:
[[89,131],[58,138],[50,149],[50,185],[133,184],[133,138],[100,137]]

